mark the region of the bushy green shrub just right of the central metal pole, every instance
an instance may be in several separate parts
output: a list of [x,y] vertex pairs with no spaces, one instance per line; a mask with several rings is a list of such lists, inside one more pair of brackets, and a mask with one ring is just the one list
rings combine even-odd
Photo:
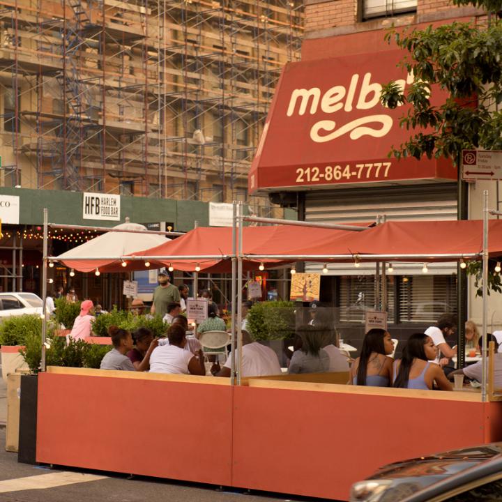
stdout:
[[295,305],[287,301],[260,302],[248,313],[254,340],[284,340],[295,332]]

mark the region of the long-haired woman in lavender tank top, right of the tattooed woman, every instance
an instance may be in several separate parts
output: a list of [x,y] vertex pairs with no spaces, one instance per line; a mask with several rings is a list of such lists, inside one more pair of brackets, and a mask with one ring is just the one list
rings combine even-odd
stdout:
[[432,361],[437,348],[425,333],[414,333],[406,343],[401,360],[394,363],[394,387],[431,390],[434,382],[441,390],[453,390],[439,366]]

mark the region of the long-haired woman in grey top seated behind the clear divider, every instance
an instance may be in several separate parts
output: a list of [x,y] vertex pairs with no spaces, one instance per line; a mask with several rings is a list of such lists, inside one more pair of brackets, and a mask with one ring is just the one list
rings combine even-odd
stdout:
[[288,373],[321,373],[330,367],[330,357],[322,348],[326,345],[326,331],[305,324],[297,330],[302,340],[302,347],[291,356]]

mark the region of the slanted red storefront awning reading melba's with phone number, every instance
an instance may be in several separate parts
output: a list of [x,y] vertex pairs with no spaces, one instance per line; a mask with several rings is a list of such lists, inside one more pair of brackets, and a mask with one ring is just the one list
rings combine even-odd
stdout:
[[[288,63],[252,162],[250,192],[456,181],[449,160],[388,158],[391,146],[410,136],[400,127],[406,110],[388,109],[379,101],[381,84],[412,82],[397,67],[402,56],[390,50]],[[444,98],[434,90],[432,103]]]

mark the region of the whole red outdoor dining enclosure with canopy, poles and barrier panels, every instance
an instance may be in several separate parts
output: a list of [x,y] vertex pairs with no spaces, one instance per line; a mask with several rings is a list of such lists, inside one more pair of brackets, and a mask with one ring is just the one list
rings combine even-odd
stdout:
[[[483,221],[375,227],[246,227],[277,221],[243,216],[234,204],[231,228],[197,228],[125,256],[104,252],[100,272],[123,271],[123,261],[136,269],[147,261],[151,268],[231,272],[238,307],[232,378],[45,367],[43,359],[37,462],[347,500],[351,483],[388,462],[502,441],[502,402],[491,385],[487,347],[481,393],[347,386],[347,374],[298,381],[240,373],[243,271],[261,264],[482,260],[485,334],[488,259],[502,255],[502,221],[488,220],[486,200],[485,192]],[[45,236],[49,225],[46,213]],[[56,259],[45,252],[44,273]],[[78,260],[90,269],[96,256]],[[72,266],[79,268],[75,260]]]

